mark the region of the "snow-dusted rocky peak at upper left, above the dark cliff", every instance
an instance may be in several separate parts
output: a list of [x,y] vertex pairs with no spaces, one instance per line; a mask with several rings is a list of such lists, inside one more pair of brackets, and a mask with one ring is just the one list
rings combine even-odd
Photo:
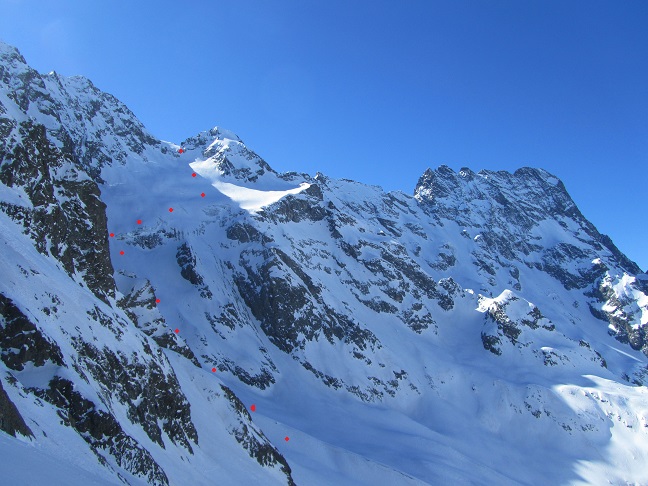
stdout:
[[0,102],[7,123],[43,125],[93,178],[105,166],[149,161],[161,151],[160,141],[117,98],[84,76],[39,74],[6,43],[0,43],[0,89],[7,93]]

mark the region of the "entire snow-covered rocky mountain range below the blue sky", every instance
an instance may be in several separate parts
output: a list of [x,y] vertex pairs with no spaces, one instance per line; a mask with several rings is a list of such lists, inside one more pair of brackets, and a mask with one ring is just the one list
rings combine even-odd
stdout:
[[0,44],[0,184],[10,483],[648,483],[648,276],[543,170],[280,174]]

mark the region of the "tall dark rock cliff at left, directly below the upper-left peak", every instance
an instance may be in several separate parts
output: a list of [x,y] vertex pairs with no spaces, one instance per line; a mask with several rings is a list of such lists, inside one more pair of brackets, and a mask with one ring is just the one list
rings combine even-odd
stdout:
[[107,303],[115,282],[99,187],[50,143],[45,127],[23,123],[20,134],[20,144],[0,153],[0,182],[22,188],[33,209],[0,209],[24,225],[41,253],[60,261]]

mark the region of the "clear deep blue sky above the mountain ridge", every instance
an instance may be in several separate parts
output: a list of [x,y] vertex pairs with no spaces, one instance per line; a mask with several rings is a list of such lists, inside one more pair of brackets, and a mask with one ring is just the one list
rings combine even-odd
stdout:
[[648,269],[648,1],[0,0],[0,38],[280,171],[543,167]]

